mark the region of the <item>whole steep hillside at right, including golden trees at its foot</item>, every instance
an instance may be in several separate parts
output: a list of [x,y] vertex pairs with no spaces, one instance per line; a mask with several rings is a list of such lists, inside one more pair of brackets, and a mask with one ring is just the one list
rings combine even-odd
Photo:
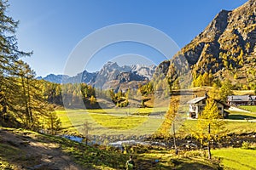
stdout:
[[220,87],[220,82],[230,79],[236,89],[255,89],[255,16],[254,0],[232,11],[222,10],[171,61],[162,62],[159,69],[169,77],[191,71],[194,87],[214,83]]

